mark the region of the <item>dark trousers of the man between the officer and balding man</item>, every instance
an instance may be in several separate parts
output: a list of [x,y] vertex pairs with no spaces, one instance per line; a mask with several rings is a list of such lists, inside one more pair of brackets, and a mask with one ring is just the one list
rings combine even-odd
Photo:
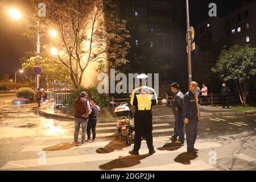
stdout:
[[182,114],[174,114],[175,117],[175,126],[174,126],[174,134],[172,134],[172,138],[177,139],[179,137],[180,142],[184,142],[184,122]]

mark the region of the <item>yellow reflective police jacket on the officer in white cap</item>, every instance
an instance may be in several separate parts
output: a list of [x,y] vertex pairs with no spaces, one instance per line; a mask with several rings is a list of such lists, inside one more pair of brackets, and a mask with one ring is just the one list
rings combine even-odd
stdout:
[[135,110],[151,110],[153,105],[158,104],[158,97],[154,89],[148,86],[139,86],[133,90],[130,104],[135,106]]

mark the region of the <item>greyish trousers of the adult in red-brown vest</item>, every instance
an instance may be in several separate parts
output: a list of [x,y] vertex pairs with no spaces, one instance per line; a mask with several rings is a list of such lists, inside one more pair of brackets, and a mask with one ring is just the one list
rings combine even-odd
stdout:
[[75,118],[75,133],[74,133],[74,142],[77,142],[80,125],[82,125],[82,139],[81,142],[84,143],[85,135],[86,135],[86,127],[87,127],[88,118]]

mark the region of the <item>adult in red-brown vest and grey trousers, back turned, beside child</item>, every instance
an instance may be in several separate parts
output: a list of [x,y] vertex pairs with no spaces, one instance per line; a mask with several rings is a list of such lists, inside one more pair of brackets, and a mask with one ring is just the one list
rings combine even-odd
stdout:
[[88,101],[88,94],[86,92],[81,92],[79,97],[75,100],[75,133],[74,133],[74,144],[78,146],[78,135],[80,130],[80,125],[82,125],[82,137],[81,144],[85,144],[86,127],[88,122],[88,117],[90,113],[90,104]]

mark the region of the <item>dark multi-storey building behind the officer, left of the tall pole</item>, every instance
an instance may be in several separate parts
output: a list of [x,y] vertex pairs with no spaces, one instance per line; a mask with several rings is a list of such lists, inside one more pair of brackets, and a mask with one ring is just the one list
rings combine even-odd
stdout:
[[120,6],[131,34],[131,71],[159,73],[163,83],[180,77],[180,65],[187,65],[185,1],[123,0]]

